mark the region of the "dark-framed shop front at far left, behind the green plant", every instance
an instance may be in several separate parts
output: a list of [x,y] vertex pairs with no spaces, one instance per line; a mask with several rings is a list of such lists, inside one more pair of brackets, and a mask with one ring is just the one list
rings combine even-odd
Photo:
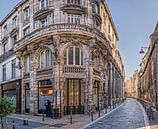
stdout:
[[21,83],[20,80],[2,84],[2,96],[13,99],[16,113],[21,113]]

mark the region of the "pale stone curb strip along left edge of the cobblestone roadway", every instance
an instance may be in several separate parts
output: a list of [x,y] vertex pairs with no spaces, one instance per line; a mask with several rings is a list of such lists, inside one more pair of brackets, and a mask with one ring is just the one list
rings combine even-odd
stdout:
[[87,128],[88,126],[94,124],[95,122],[99,121],[100,119],[108,116],[109,114],[111,114],[112,112],[114,112],[115,110],[117,110],[118,108],[120,108],[121,106],[123,106],[127,101],[123,102],[121,105],[119,105],[118,107],[116,107],[115,109],[111,110],[110,112],[106,113],[105,115],[101,116],[100,118],[97,118],[96,120],[90,122],[89,124],[83,126],[83,127],[80,127],[79,129],[85,129]]

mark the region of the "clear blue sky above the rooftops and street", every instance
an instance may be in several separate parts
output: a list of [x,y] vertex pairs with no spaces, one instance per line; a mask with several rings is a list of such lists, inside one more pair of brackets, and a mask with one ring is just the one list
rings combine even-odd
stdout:
[[[1,0],[0,20],[20,0]],[[158,21],[158,0],[106,0],[119,35],[119,50],[125,66],[126,78],[139,68],[149,36]]]

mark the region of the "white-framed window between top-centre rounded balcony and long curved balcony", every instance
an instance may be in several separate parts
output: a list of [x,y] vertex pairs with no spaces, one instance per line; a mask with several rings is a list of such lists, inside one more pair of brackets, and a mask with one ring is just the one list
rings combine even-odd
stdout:
[[80,15],[68,15],[68,23],[80,24],[81,16]]

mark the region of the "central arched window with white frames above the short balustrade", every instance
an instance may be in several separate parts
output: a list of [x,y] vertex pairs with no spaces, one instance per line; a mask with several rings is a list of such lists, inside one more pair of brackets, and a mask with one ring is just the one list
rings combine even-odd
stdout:
[[66,65],[83,65],[83,52],[79,47],[72,46],[66,49],[64,55]]

